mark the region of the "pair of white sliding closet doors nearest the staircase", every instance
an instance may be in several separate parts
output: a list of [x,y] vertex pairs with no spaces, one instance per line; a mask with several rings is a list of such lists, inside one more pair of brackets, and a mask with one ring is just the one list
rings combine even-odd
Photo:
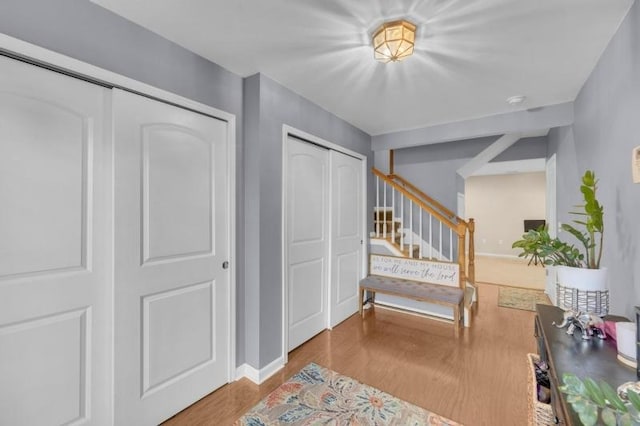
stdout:
[[362,160],[295,137],[286,144],[288,350],[358,310]]

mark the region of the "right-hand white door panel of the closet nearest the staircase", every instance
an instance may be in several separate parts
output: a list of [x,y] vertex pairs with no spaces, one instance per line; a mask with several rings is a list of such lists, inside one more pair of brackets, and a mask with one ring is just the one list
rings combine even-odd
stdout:
[[331,151],[329,326],[358,311],[362,276],[362,160]]

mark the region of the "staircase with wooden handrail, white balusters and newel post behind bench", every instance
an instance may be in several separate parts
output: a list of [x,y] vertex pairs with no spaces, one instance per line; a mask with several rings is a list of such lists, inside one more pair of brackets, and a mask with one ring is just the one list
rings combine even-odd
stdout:
[[372,171],[376,198],[371,244],[384,245],[394,256],[458,264],[465,309],[471,310],[477,301],[474,220],[460,218],[397,174]]

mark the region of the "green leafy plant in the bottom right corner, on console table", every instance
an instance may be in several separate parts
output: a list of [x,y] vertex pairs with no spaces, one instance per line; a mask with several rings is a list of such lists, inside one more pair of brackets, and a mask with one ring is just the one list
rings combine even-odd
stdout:
[[[607,382],[596,383],[590,377],[578,378],[565,373],[558,389],[567,394],[567,402],[585,426],[632,426],[640,422],[640,396],[627,391],[628,402],[623,401]],[[602,423],[598,423],[601,420]]]

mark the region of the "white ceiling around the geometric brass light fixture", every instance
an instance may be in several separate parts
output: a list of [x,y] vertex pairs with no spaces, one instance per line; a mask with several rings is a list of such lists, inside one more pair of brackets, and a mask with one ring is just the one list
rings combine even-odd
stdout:
[[[371,135],[575,99],[633,0],[92,0],[240,76],[278,81]],[[384,20],[415,54],[373,59]],[[506,103],[524,95],[518,107]]]

